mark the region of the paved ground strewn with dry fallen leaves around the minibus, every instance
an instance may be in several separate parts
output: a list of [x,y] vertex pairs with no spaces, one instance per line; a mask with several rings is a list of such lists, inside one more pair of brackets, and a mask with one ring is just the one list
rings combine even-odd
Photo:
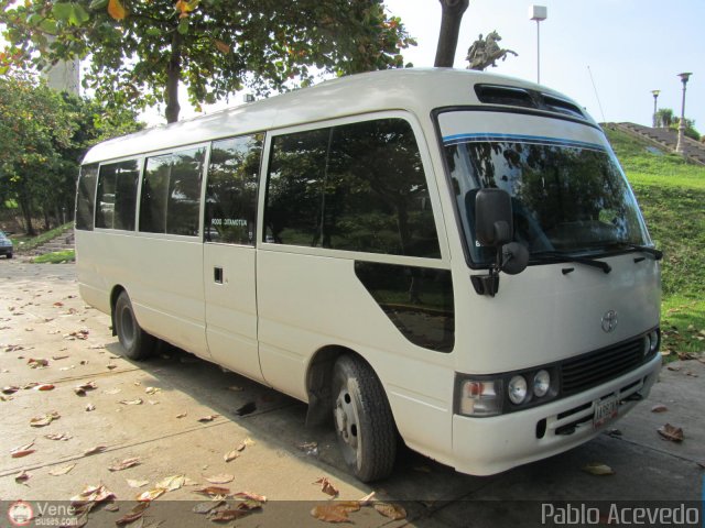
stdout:
[[[677,526],[673,516],[695,508],[693,526],[705,526],[705,364],[697,360],[671,363],[650,399],[616,430],[567,453],[475,477],[404,448],[393,476],[368,486],[346,473],[332,430],[304,427],[304,404],[169,346],[148,362],[124,360],[109,318],[77,294],[73,265],[0,262],[0,386],[19,387],[0,402],[0,498],[3,510],[23,499],[35,517],[43,514],[31,526],[57,522],[66,501],[99,485],[116,502],[100,503],[80,521],[116,526],[140,494],[170,487],[160,482],[167,477],[176,477],[173,490],[127,526],[212,526],[193,508],[210,498],[197,490],[217,485],[268,497],[251,515],[231,514],[238,518],[228,526],[323,527],[312,508],[340,503],[322,492],[321,477],[337,488],[338,501],[375,492],[405,510],[392,520],[365,506],[347,514],[356,526],[566,526],[575,519],[628,526],[637,506],[651,515],[671,512],[663,526]],[[75,387],[88,382],[96,388],[77,395]],[[242,414],[252,404],[254,410]],[[657,405],[665,410],[653,413]],[[47,425],[33,427],[33,419]],[[664,440],[657,430],[665,424],[681,427],[684,440]],[[86,454],[94,448],[102,449]],[[232,451],[238,457],[226,462]],[[133,458],[135,465],[119,469]],[[584,470],[590,463],[614,474],[590,474]],[[230,512],[239,503],[227,504],[220,508]],[[1,518],[4,526],[4,512]]]

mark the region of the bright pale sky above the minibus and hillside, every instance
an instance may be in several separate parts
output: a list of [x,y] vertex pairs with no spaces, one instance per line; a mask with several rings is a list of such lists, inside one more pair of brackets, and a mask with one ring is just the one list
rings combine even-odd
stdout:
[[[661,90],[659,108],[671,108],[680,116],[682,84],[676,75],[692,72],[685,113],[705,133],[705,0],[470,0],[455,67],[467,66],[467,48],[480,33],[496,30],[502,47],[519,56],[509,56],[489,72],[536,80],[536,23],[529,20],[533,3],[547,8],[540,28],[542,84],[577,100],[597,121],[650,125],[651,90]],[[440,2],[387,0],[386,4],[419,42],[404,52],[405,62],[433,66]],[[185,95],[181,101],[182,118],[196,114]],[[240,102],[240,96],[230,100],[230,105]],[[145,118],[151,124],[163,122],[154,112]]]

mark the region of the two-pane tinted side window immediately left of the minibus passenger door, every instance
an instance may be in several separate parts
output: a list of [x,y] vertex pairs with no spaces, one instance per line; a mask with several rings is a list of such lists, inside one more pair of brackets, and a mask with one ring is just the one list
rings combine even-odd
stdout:
[[150,157],[140,204],[140,231],[198,234],[200,178],[206,150]]

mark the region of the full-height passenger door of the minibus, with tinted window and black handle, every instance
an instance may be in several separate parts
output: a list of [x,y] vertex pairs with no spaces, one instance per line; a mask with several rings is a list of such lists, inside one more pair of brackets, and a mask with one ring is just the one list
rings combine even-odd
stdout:
[[264,134],[214,141],[204,199],[206,338],[213,361],[262,381],[254,233]]

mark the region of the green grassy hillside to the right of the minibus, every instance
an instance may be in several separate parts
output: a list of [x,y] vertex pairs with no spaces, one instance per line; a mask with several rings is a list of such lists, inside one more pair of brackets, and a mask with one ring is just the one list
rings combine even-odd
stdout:
[[705,167],[659,153],[622,132],[606,132],[651,238],[664,252],[663,348],[705,351]]

